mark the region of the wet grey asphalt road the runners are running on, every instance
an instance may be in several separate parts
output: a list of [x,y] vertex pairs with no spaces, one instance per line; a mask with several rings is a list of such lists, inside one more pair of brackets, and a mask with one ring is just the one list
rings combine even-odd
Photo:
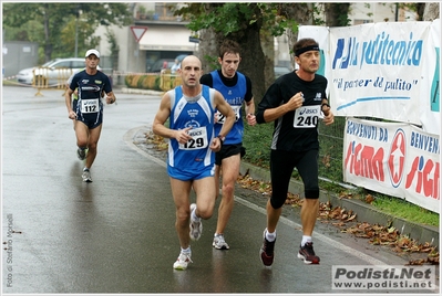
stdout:
[[[81,180],[62,91],[2,89],[2,293],[350,293],[331,289],[332,265],[403,265],[405,260],[318,225],[320,265],[296,257],[299,216],[278,225],[271,268],[259,261],[265,200],[237,197],[229,251],[212,247],[216,212],[192,242],[187,271],[172,268],[179,245],[164,161],[134,142],[160,97],[123,94],[106,106],[93,182]],[[403,292],[401,292],[403,293]],[[411,293],[411,290],[405,290]]]

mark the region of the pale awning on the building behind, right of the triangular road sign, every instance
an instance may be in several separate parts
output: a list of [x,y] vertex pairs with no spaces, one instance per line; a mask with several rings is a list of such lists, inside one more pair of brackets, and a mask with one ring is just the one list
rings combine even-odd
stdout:
[[184,27],[148,27],[140,40],[142,51],[195,51],[192,31]]

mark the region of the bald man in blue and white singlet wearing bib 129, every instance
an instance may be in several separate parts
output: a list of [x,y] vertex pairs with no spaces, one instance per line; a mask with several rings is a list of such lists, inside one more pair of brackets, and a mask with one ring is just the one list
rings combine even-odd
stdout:
[[[193,262],[191,240],[199,240],[202,220],[209,219],[214,212],[215,152],[232,129],[235,113],[222,93],[199,83],[202,63],[197,56],[186,56],[177,74],[181,85],[161,98],[152,129],[168,139],[167,173],[181,249],[173,267],[183,271]],[[219,134],[214,130],[215,109],[226,116]],[[191,192],[195,192],[194,203],[191,203]]]

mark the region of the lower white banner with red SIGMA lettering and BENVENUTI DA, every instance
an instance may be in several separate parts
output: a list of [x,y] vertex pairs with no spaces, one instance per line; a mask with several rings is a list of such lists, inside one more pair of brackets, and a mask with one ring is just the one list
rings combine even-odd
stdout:
[[343,180],[440,213],[440,137],[408,124],[348,118]]

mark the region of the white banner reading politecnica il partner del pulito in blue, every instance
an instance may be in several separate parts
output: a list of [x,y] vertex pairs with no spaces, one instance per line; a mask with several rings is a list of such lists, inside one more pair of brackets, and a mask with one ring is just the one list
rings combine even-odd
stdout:
[[429,22],[382,22],[330,30],[330,96],[337,115],[420,125],[429,28]]

